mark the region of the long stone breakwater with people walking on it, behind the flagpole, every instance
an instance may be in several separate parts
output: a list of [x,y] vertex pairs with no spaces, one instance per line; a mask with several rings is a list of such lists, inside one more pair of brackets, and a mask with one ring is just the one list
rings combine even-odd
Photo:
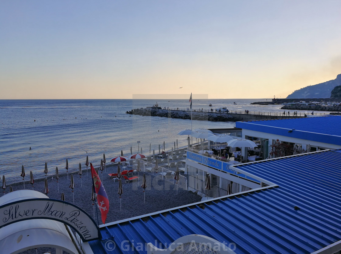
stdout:
[[[191,111],[187,110],[168,110],[155,108],[136,108],[127,111],[126,114],[139,116],[158,116],[177,119],[191,119]],[[219,112],[202,112],[193,111],[193,120],[213,121],[213,122],[236,122],[236,121],[251,121],[251,120],[267,120],[267,119],[283,119],[283,118],[297,118],[297,116],[283,116],[277,113],[260,113],[254,112],[246,114],[244,111],[234,111],[234,113],[219,113]]]

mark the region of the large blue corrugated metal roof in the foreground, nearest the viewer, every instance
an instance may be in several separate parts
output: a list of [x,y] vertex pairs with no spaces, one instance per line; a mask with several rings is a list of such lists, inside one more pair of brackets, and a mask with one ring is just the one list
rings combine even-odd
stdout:
[[[341,150],[235,165],[278,187],[103,227],[103,240],[89,244],[94,253],[147,253],[119,246],[166,248],[201,234],[235,243],[236,253],[311,253],[341,240],[340,165]],[[105,249],[108,240],[116,244],[112,252]]]

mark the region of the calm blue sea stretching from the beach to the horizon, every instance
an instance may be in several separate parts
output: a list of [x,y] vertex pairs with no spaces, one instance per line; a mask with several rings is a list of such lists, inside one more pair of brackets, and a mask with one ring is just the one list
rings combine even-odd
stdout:
[[[250,104],[257,101],[271,99],[193,99],[192,105],[193,110],[204,111],[227,107],[233,111],[283,112],[281,105]],[[121,150],[130,155],[131,147],[133,153],[142,148],[145,155],[153,150],[158,153],[163,142],[166,151],[174,147],[174,142],[177,148],[186,147],[187,136],[178,135],[184,129],[235,127],[235,122],[126,114],[154,104],[162,108],[190,107],[189,100],[0,100],[0,177],[4,175],[7,184],[21,181],[22,165],[27,177],[31,170],[35,179],[44,177],[45,162],[49,175],[55,174],[56,166],[60,174],[66,173],[66,159],[69,172],[78,171],[79,163],[85,167],[87,155],[89,162],[99,165],[103,153],[108,163]]]

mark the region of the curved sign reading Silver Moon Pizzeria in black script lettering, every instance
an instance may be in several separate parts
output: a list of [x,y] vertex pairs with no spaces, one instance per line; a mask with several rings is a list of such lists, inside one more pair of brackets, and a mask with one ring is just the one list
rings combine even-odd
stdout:
[[83,209],[58,199],[32,198],[0,206],[0,228],[18,221],[47,219],[72,227],[83,242],[99,239],[100,230]]

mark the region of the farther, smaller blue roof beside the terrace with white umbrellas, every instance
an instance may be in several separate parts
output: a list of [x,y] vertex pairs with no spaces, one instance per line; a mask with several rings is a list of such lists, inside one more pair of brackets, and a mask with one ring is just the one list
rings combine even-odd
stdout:
[[337,115],[236,122],[236,128],[341,145],[341,116]]

